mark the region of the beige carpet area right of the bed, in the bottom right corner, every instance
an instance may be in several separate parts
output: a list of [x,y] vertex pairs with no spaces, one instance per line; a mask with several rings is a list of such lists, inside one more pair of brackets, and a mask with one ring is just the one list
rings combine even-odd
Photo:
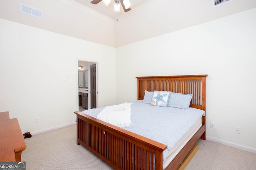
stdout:
[[198,151],[185,170],[256,170],[256,154],[199,139]]

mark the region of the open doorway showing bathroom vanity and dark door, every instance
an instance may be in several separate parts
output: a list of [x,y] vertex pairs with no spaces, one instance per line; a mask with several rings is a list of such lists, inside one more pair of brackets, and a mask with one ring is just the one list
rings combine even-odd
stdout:
[[78,60],[78,110],[97,107],[97,63]]

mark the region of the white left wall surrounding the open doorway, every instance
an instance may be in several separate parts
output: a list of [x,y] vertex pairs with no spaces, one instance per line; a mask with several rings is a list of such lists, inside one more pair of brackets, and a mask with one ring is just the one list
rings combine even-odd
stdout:
[[115,48],[8,20],[0,25],[0,112],[17,117],[22,133],[75,122],[78,60],[98,62],[98,106],[115,104]]

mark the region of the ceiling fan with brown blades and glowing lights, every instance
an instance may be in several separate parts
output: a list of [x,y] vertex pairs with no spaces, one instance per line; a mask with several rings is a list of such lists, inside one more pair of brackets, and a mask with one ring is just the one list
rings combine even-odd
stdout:
[[[100,1],[102,1],[104,5],[108,6],[111,0],[92,0],[91,3],[98,4]],[[124,12],[128,12],[131,10],[131,4],[129,0],[114,0],[114,2],[114,11],[116,12],[120,12],[120,4],[122,5]]]

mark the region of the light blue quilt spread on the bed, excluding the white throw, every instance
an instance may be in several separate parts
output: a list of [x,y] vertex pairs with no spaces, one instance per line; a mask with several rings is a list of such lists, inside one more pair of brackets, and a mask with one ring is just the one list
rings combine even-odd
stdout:
[[[82,113],[96,118],[103,109],[104,107],[88,109]],[[164,150],[165,160],[168,150],[171,150],[180,141],[204,113],[203,110],[192,107],[179,109],[150,106],[150,104],[138,100],[131,104],[133,125],[124,129],[167,145],[167,149]]]

